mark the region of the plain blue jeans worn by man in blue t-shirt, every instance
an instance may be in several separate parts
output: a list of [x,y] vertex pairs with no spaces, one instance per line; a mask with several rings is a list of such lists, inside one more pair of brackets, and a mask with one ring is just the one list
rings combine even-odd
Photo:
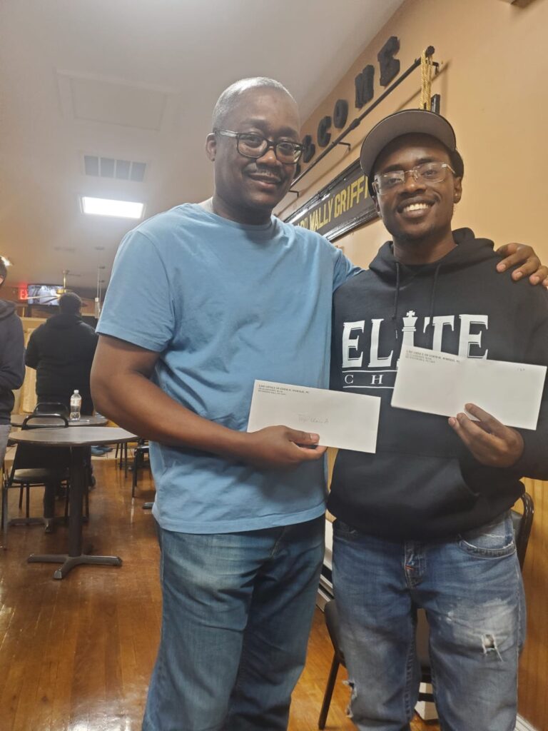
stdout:
[[162,626],[143,731],[283,731],[305,662],[324,517],[194,535],[159,529]]

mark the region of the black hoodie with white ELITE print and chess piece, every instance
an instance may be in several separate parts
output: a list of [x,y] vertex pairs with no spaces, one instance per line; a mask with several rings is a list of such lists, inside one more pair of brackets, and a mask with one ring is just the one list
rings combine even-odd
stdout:
[[523,491],[520,477],[548,477],[547,387],[537,430],[520,430],[525,450],[511,469],[476,461],[446,417],[390,406],[403,343],[548,364],[544,288],[497,273],[492,242],[471,230],[454,239],[443,259],[420,266],[396,262],[385,243],[368,271],[335,292],[332,388],[382,401],[376,454],[338,452],[328,508],[379,537],[449,539],[508,510]]

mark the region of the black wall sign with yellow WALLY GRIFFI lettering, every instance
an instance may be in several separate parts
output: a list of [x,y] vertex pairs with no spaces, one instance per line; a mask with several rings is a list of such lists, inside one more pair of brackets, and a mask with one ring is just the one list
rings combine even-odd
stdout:
[[377,217],[365,175],[356,160],[285,221],[334,241]]

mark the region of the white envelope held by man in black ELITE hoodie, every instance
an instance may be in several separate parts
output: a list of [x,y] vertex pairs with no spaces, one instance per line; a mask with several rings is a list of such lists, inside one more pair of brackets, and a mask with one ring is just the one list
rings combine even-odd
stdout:
[[403,346],[392,406],[455,416],[476,404],[506,426],[536,429],[546,366]]

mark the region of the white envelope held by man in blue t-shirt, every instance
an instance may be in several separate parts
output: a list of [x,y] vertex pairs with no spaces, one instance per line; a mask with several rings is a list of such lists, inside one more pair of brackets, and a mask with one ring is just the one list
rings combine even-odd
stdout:
[[319,434],[319,444],[375,452],[381,399],[357,393],[255,381],[248,431],[283,425]]

